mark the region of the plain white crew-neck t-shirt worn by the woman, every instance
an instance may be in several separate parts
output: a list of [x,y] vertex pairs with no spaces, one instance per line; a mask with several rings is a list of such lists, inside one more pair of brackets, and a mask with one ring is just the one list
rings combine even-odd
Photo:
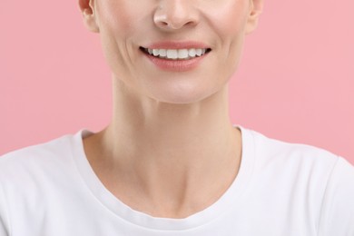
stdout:
[[0,158],[0,236],[354,236],[354,168],[319,148],[241,128],[238,176],[185,219],[156,218],[116,199],[66,135]]

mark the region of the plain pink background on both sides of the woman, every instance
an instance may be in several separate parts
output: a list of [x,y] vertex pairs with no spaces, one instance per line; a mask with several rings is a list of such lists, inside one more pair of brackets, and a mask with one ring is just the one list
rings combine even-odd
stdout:
[[[231,80],[233,123],[354,163],[352,0],[265,0]],[[75,1],[2,0],[0,154],[110,121],[111,75]]]

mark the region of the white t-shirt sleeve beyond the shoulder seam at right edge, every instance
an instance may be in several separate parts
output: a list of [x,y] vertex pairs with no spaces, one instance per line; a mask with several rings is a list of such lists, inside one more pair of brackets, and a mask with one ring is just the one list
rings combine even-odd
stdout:
[[354,167],[339,157],[323,197],[319,236],[354,236]]

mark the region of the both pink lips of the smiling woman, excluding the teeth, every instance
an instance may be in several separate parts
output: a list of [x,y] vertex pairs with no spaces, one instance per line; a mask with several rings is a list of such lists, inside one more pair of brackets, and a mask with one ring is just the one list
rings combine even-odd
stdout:
[[171,60],[171,59],[163,59],[159,57],[155,57],[151,54],[146,54],[141,50],[142,54],[146,56],[152,64],[157,66],[159,69],[163,71],[171,71],[171,72],[186,72],[198,67],[199,64],[202,63],[203,59],[209,55],[211,52],[211,47],[207,44],[203,44],[201,42],[195,41],[162,41],[158,43],[149,44],[147,46],[142,46],[143,48],[150,49],[191,49],[191,48],[205,48],[210,49],[210,51],[202,56],[197,56],[192,59],[187,60]]

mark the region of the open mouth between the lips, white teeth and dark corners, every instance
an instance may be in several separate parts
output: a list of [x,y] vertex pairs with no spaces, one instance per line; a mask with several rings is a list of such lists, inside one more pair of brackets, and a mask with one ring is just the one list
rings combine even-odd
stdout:
[[181,61],[191,60],[196,57],[201,57],[204,54],[209,54],[211,48],[182,48],[182,49],[161,49],[161,48],[145,48],[143,46],[139,49],[144,53],[156,58]]

